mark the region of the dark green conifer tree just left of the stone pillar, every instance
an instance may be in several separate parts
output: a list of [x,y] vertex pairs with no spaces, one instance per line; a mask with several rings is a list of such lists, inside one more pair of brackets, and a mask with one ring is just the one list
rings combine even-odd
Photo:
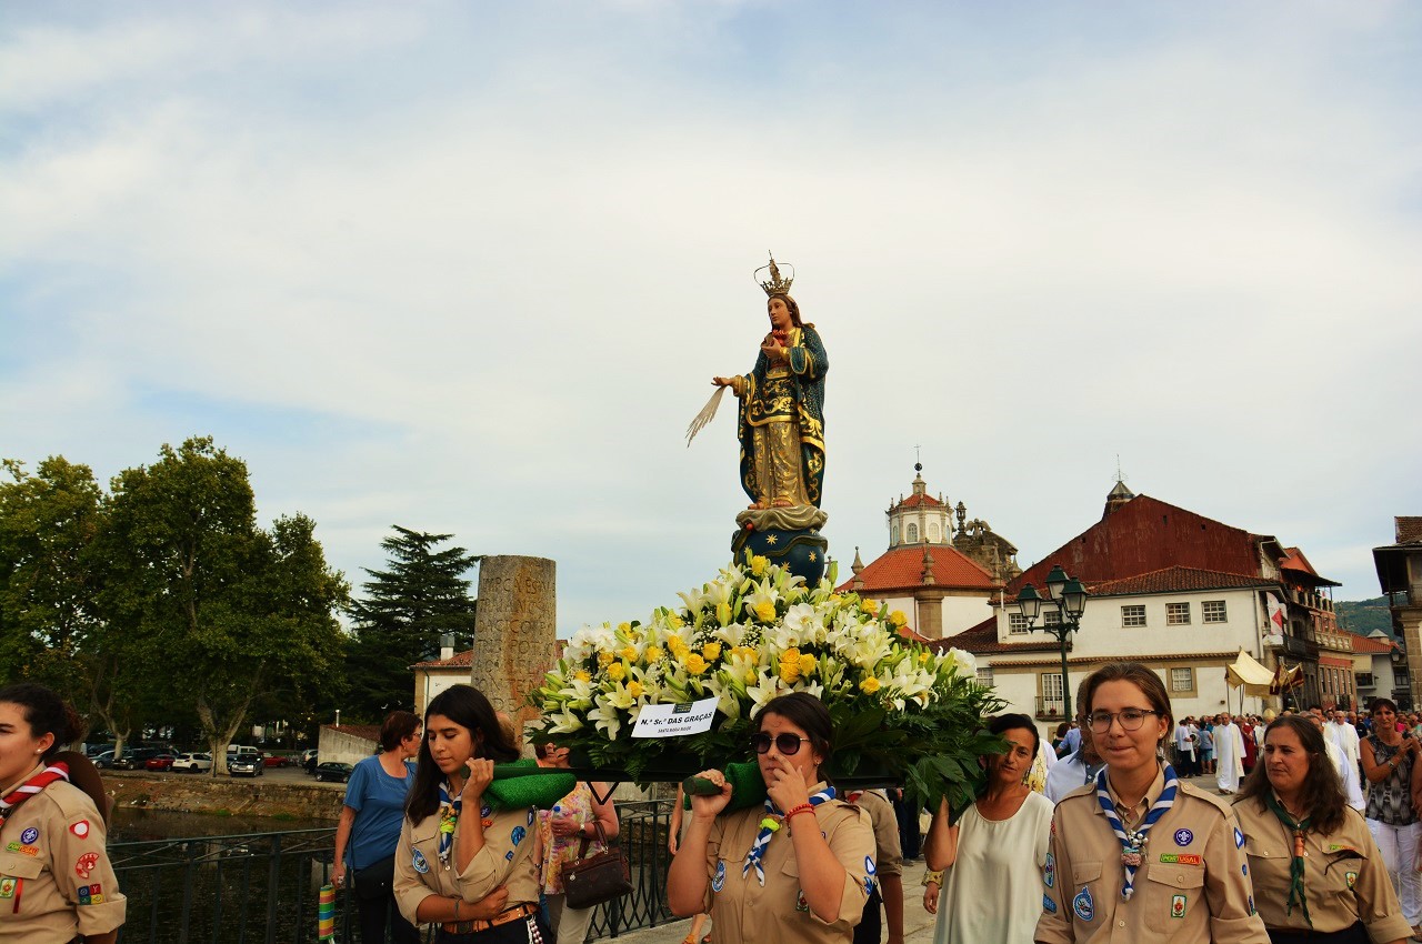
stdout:
[[412,708],[410,667],[439,648],[439,635],[474,635],[476,601],[464,577],[479,557],[464,547],[438,549],[452,535],[429,535],[392,525],[395,533],[380,543],[388,554],[385,570],[365,569],[364,599],[348,613],[356,640],[346,675],[353,717],[378,721],[384,711]]

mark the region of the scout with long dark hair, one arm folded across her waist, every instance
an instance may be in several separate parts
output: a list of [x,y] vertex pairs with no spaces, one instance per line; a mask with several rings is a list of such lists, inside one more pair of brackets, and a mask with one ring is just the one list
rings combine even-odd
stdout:
[[495,762],[518,756],[479,690],[454,685],[429,701],[395,847],[395,900],[411,924],[439,924],[437,944],[549,940],[533,809],[483,802]]

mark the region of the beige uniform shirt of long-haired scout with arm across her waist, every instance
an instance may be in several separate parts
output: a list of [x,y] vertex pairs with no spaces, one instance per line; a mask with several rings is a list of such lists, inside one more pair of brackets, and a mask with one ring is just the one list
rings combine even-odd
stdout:
[[[483,816],[475,816],[483,812]],[[488,823],[488,825],[485,825]],[[483,829],[483,849],[464,871],[455,869],[459,830]],[[505,812],[472,810],[465,805],[454,827],[449,863],[439,862],[439,813],[411,823],[407,816],[395,846],[395,901],[411,924],[419,924],[415,910],[432,894],[464,899],[471,904],[501,884],[509,890],[508,907],[538,901],[538,859],[533,857],[538,829],[533,809]],[[428,921],[427,921],[428,923]]]

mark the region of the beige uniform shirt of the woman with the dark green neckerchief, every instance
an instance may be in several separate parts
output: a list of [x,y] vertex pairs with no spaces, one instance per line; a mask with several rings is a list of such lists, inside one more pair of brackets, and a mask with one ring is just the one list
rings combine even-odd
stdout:
[[[1266,927],[1307,931],[1304,910],[1288,914],[1288,870],[1294,859],[1294,836],[1257,799],[1234,803],[1249,874],[1254,880],[1254,904]],[[1314,931],[1341,931],[1359,920],[1374,941],[1406,940],[1412,935],[1398,893],[1382,864],[1382,856],[1368,823],[1358,810],[1344,809],[1344,823],[1330,836],[1304,835],[1304,893]]]

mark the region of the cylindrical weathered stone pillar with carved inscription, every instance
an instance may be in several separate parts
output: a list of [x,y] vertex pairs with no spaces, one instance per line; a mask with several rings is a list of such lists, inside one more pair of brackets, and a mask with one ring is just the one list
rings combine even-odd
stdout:
[[[515,719],[555,660],[557,564],[546,557],[486,556],[479,562],[471,684]],[[535,712],[536,714],[536,712]]]

